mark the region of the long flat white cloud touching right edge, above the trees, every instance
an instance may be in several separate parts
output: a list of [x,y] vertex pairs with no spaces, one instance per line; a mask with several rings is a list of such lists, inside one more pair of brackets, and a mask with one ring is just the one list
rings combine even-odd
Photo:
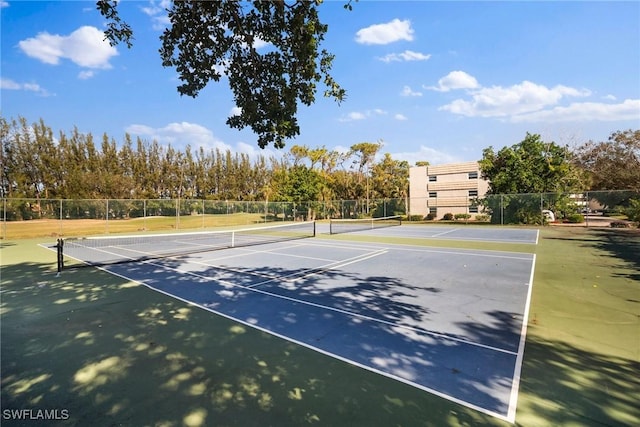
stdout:
[[640,99],[626,99],[619,104],[599,102],[575,102],[567,107],[515,115],[512,122],[609,122],[620,120],[640,121]]

